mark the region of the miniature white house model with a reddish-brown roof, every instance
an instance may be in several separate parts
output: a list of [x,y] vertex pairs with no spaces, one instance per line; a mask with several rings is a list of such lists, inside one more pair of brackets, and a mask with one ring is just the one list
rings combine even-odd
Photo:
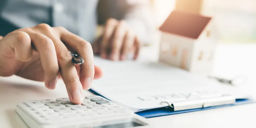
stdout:
[[217,42],[214,30],[210,17],[173,11],[160,27],[159,61],[210,75]]

